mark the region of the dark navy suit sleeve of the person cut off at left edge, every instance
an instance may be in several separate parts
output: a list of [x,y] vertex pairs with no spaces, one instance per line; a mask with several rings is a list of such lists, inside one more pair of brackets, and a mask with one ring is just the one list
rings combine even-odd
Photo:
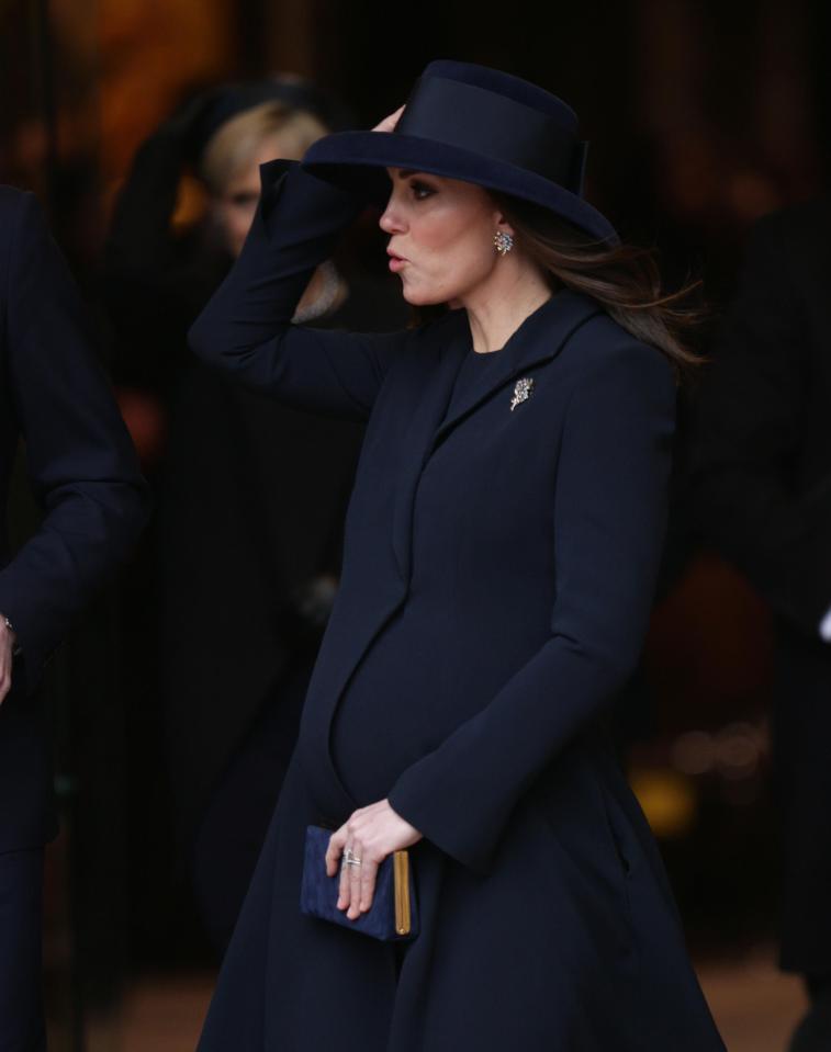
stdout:
[[14,625],[32,689],[128,554],[149,497],[78,290],[36,199],[22,200],[9,257],[5,382],[44,519],[0,570],[0,612]]

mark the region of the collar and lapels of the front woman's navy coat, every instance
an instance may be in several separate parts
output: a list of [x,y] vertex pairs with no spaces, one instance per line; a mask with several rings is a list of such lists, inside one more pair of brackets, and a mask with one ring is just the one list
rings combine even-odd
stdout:
[[[537,307],[515,329],[508,341],[496,351],[498,361],[493,363],[457,403],[453,411],[447,411],[453,382],[469,353],[473,353],[473,340],[463,308],[451,310],[436,324],[430,350],[437,355],[429,366],[431,374],[425,385],[411,430],[407,433],[397,484],[393,520],[393,550],[398,569],[408,580],[412,556],[412,521],[418,479],[433,452],[447,434],[483,401],[515,378],[559,354],[569,337],[602,308],[593,299],[570,290],[554,293]],[[425,357],[430,357],[425,354]],[[509,399],[506,401],[507,410]]]

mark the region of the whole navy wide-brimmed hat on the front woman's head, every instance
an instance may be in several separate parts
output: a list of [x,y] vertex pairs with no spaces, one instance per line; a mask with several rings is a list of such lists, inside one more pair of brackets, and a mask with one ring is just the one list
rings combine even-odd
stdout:
[[541,205],[616,245],[609,220],[583,200],[587,145],[557,95],[497,69],[438,59],[416,81],[394,131],[326,135],[301,166],[381,205],[390,195],[385,168],[461,179]]

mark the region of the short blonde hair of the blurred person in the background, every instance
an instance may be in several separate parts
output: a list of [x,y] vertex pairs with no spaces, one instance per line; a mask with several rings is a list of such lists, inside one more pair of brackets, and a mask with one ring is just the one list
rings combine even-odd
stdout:
[[202,151],[200,174],[209,190],[220,194],[234,176],[251,162],[263,140],[279,136],[279,156],[300,160],[327,131],[306,110],[295,110],[282,102],[262,102],[217,128]]

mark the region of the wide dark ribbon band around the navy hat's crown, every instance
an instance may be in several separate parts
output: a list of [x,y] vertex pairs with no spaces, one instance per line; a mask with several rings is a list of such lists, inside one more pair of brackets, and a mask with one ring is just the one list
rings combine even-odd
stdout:
[[393,134],[472,150],[582,193],[585,144],[539,110],[475,84],[419,78]]

